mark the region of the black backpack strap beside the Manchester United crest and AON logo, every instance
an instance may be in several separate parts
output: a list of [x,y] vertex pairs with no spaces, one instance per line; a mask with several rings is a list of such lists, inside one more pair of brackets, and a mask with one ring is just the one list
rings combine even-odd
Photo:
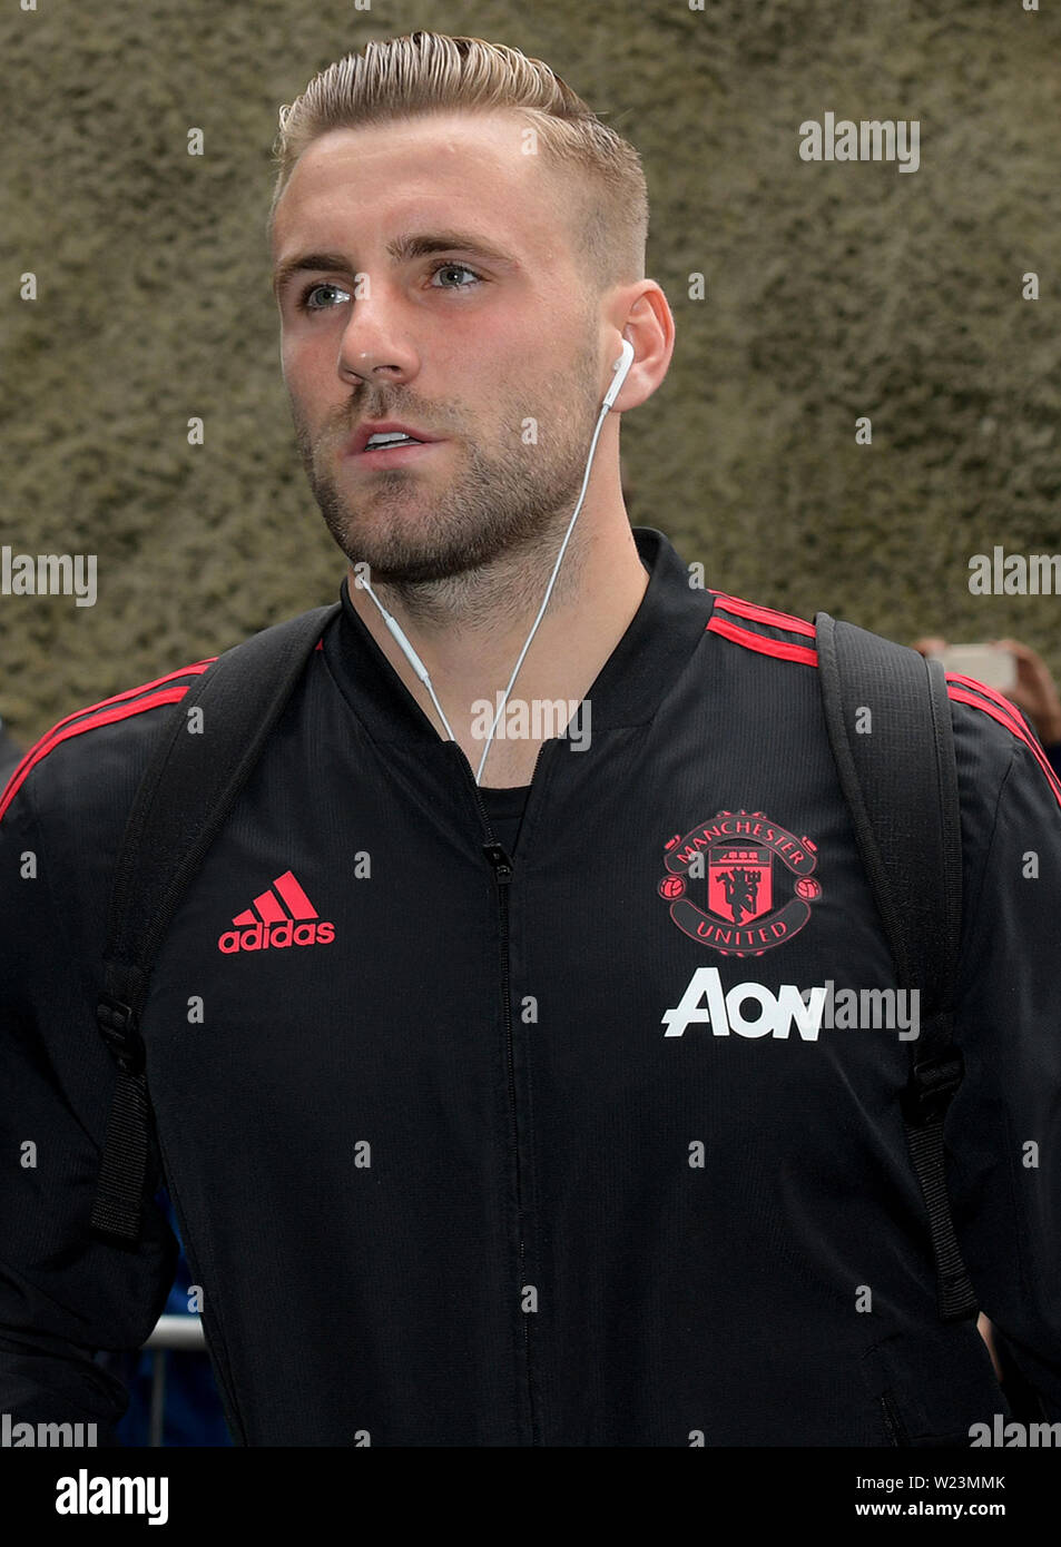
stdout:
[[[962,831],[942,662],[827,613],[815,617],[829,744],[900,989],[919,992],[902,1111],[943,1321],[976,1313],[947,1193],[943,1120],[964,1061],[953,1041]],[[866,733],[860,718],[869,710]],[[860,716],[861,712],[861,716]]]

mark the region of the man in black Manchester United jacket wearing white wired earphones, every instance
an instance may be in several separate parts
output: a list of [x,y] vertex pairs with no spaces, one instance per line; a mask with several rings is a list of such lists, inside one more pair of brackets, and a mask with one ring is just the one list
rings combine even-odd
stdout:
[[[896,976],[815,630],[626,520],[619,416],[674,342],[645,231],[631,147],[509,50],[370,45],[281,114],[283,371],[350,572],[144,1016],[237,1443],[968,1443],[1016,1383],[1061,1417],[1061,791],[954,684],[948,1185],[1004,1391],[936,1310],[908,1041],[820,1026],[824,982]],[[172,1275],[158,1210],[135,1252],[87,1231],[93,1007],[124,818],[203,668],[71,716],[3,800],[0,1398],[29,1419],[113,1425],[93,1351]]]

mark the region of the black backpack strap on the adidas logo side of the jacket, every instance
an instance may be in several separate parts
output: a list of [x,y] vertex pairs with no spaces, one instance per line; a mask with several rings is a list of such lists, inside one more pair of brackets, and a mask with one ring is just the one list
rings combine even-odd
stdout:
[[[141,1013],[155,956],[184,888],[221,829],[266,738],[342,603],[319,606],[241,640],[173,705],[136,789],[114,866],[99,1030],[118,1063],[91,1227],[139,1239],[150,1101]],[[203,730],[189,733],[189,709]]]

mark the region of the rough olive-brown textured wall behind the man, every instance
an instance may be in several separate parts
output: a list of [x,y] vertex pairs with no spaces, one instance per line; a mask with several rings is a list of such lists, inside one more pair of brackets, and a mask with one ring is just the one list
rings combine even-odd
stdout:
[[[1012,633],[1058,671],[1061,597],[967,583],[996,545],[1061,552],[1058,6],[39,0],[0,19],[0,543],[96,554],[99,596],[0,596],[17,738],[337,594],[280,377],[269,149],[316,70],[416,26],[546,59],[643,155],[677,348],[623,422],[634,523],[708,585],[906,640]],[[826,113],[917,119],[917,172],[800,159]]]

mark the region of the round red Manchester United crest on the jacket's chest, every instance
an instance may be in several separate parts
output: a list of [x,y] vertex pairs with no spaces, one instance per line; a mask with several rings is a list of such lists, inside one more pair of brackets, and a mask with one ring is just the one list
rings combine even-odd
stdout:
[[722,956],[761,956],[790,941],[821,896],[815,845],[764,811],[719,811],[685,837],[674,834],[664,854],[659,894],[671,919]]

